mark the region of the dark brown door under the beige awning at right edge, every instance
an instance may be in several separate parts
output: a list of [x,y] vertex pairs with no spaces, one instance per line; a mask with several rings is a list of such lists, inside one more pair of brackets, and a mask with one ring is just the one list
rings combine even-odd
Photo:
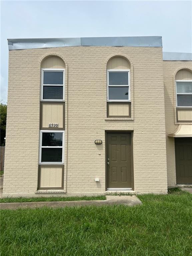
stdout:
[[175,138],[177,184],[192,184],[192,138]]

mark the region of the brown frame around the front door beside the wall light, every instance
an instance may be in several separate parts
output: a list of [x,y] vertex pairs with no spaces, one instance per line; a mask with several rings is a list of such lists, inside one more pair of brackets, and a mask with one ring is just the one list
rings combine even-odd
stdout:
[[[130,133],[131,134],[131,183],[134,191],[134,165],[133,165],[133,130],[105,130],[105,191],[107,191],[107,133]],[[122,188],[123,189],[123,188]]]

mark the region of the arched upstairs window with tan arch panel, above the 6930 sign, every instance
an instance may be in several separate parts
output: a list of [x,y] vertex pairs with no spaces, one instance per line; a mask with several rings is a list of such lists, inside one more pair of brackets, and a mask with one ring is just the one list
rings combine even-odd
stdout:
[[58,56],[48,56],[41,63],[41,100],[64,101],[65,63]]

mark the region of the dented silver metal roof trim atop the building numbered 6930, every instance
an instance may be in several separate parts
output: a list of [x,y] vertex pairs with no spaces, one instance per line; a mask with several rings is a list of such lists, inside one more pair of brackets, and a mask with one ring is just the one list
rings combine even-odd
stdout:
[[161,36],[7,39],[9,50],[69,46],[162,47]]

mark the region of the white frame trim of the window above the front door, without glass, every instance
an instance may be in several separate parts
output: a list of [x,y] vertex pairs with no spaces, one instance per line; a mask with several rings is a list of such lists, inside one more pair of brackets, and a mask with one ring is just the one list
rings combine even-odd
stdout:
[[[109,72],[128,72],[128,85],[109,85]],[[109,87],[128,87],[128,100],[109,100]],[[131,102],[130,69],[107,69],[107,102]]]

